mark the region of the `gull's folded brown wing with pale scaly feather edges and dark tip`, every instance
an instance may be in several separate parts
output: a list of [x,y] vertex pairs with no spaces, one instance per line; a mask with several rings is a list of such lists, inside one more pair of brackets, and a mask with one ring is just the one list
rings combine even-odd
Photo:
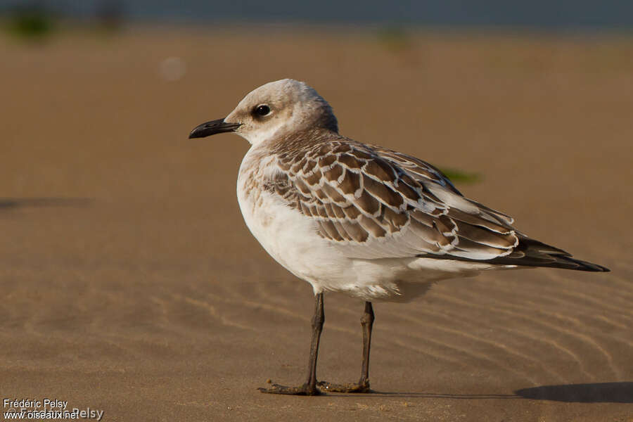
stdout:
[[269,188],[347,257],[603,268],[521,234],[511,217],[464,198],[442,172],[406,154],[339,139],[280,154],[278,165]]

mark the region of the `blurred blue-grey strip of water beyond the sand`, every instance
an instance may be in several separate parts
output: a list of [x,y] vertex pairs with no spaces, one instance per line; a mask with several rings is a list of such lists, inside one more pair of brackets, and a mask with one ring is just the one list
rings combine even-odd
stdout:
[[550,27],[630,27],[633,6],[628,1],[605,0],[3,0],[8,8],[40,8],[71,18],[93,19],[117,15],[146,22],[218,23],[222,21],[300,23],[409,23],[412,25],[494,25]]

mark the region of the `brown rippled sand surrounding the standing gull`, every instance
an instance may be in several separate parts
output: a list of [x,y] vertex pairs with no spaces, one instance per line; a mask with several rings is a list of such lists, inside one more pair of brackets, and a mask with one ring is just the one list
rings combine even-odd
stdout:
[[[103,421],[633,421],[632,39],[326,29],[0,37],[1,398]],[[466,196],[612,272],[376,303],[374,394],[262,395],[305,376],[312,290],[243,224],[247,143],[186,136],[282,77],[343,134],[480,174]],[[355,381],[362,304],[325,312],[318,376]]]

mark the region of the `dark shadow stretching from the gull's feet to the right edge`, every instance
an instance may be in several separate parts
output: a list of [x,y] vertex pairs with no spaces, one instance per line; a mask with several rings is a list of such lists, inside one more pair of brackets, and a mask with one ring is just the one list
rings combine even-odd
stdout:
[[[522,388],[516,390],[514,394],[448,394],[441,392],[383,392],[374,390],[370,396],[471,400],[532,399],[568,403],[633,403],[633,382],[541,385],[539,387]],[[345,395],[344,397],[358,397],[358,395]]]

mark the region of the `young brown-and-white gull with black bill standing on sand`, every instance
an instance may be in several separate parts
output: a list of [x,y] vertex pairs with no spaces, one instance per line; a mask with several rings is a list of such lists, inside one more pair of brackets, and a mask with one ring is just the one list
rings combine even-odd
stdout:
[[[373,301],[408,302],[436,281],[483,270],[609,271],[521,233],[511,217],[466,198],[428,162],[340,135],[332,108],[305,82],[264,84],[189,138],[223,132],[251,144],[237,181],[248,229],[274,260],[314,290],[305,383],[273,384],[262,392],[371,391]],[[364,301],[357,383],[316,380],[326,291]]]

